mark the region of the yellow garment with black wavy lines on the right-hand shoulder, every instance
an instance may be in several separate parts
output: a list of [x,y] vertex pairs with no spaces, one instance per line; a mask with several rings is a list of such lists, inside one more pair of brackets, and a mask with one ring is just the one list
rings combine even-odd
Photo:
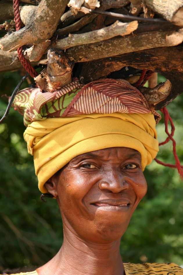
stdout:
[[125,274],[141,274],[141,275],[183,275],[183,269],[175,263],[148,263],[132,264],[124,263]]

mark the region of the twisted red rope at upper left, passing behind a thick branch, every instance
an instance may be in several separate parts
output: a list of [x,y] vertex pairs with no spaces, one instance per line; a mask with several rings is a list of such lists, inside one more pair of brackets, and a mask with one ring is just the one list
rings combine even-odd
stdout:
[[[13,0],[13,9],[14,9],[14,15],[15,15],[15,25],[16,25],[16,31],[21,29],[21,20],[20,20],[20,12],[19,12],[19,0]],[[28,63],[28,61],[25,59],[23,53],[22,53],[22,47],[19,47],[17,49],[18,57],[21,62],[21,64],[24,66],[26,71],[31,75],[31,77],[36,77],[37,72],[36,70],[31,66],[31,64]]]

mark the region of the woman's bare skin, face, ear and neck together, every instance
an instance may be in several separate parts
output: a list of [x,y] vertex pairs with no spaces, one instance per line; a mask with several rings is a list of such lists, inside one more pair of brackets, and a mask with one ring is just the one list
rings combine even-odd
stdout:
[[140,153],[114,147],[79,155],[45,185],[57,199],[64,242],[38,274],[124,274],[120,239],[147,191]]

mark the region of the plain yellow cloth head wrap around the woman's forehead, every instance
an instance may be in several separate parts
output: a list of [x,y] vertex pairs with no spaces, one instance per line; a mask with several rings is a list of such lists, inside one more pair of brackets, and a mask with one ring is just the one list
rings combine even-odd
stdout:
[[88,114],[34,121],[24,132],[34,156],[39,189],[77,155],[110,147],[128,147],[141,153],[141,164],[150,164],[158,152],[155,118],[151,113]]

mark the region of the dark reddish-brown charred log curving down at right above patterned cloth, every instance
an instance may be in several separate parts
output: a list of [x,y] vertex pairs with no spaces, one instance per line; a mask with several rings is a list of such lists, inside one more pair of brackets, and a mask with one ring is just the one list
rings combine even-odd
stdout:
[[84,83],[88,83],[92,80],[110,75],[111,72],[121,70],[121,68],[125,66],[159,72],[169,79],[172,84],[171,93],[168,95],[166,100],[155,105],[155,109],[159,110],[183,92],[182,63],[182,45],[176,47],[147,49],[144,51],[123,54],[121,56],[100,59],[97,62],[87,62],[82,68],[80,77],[82,77]]

